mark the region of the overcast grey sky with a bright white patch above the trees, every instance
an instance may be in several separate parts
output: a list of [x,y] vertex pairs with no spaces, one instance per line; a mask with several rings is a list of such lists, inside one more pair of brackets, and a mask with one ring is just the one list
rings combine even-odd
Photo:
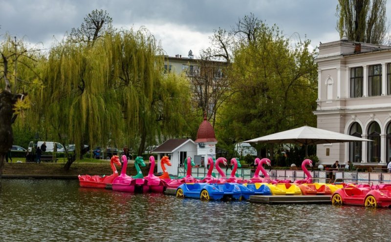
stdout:
[[[287,36],[319,42],[339,39],[335,30],[338,0],[0,0],[0,35],[8,32],[27,43],[50,47],[71,28],[80,27],[94,9],[103,9],[114,27],[145,26],[169,56],[195,56],[210,46],[218,27],[231,29],[253,13],[269,26],[277,24]],[[390,13],[387,3],[387,15]],[[41,45],[42,46],[42,45]]]

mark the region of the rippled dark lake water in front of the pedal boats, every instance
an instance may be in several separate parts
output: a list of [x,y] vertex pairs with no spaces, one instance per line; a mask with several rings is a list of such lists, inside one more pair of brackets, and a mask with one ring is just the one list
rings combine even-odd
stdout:
[[0,241],[390,241],[391,210],[201,202],[2,179]]

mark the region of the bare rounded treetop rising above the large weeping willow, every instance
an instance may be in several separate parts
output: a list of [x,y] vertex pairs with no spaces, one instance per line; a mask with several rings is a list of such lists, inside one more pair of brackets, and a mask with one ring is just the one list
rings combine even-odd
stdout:
[[72,28],[69,40],[76,43],[93,45],[94,41],[106,33],[113,33],[112,19],[105,10],[93,10],[84,18],[80,28]]

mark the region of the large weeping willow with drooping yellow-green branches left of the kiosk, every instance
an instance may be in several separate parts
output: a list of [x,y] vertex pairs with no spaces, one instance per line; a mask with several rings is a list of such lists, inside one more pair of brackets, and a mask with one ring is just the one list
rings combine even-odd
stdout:
[[74,142],[77,154],[83,144],[116,145],[124,137],[143,149],[160,133],[180,131],[183,122],[167,122],[186,107],[187,89],[163,76],[160,54],[143,29],[106,35],[93,46],[64,42],[53,48],[44,74],[46,125]]

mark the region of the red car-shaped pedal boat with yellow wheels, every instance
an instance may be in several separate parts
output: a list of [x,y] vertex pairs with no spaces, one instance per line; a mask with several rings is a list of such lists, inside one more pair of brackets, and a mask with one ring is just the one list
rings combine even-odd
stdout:
[[347,184],[336,190],[332,197],[333,205],[360,205],[366,207],[391,206],[391,184],[356,186]]

